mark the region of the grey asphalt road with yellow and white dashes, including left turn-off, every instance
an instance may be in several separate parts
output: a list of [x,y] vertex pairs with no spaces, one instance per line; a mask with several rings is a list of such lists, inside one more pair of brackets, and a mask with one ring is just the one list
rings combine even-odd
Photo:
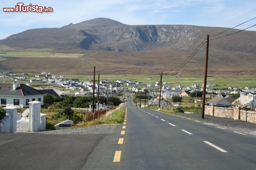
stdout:
[[256,170],[256,137],[136,108],[112,134],[0,134],[1,169]]

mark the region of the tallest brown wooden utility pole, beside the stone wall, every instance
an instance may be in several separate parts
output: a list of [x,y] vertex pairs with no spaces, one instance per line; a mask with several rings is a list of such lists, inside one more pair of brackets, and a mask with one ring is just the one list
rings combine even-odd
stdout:
[[204,68],[203,101],[202,101],[202,111],[200,115],[200,118],[202,119],[204,119],[204,106],[205,106],[207,68],[208,68],[208,52],[209,52],[209,35],[207,35],[207,38],[206,38],[206,60],[205,60],[205,68]]

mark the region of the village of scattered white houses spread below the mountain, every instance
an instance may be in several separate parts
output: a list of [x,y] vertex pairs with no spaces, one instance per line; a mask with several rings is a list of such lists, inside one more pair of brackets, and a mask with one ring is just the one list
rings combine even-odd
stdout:
[[[1,78],[9,78],[13,82],[18,83],[19,81],[27,82],[26,85],[31,86],[31,83],[41,83],[42,86],[47,84],[51,86],[51,89],[42,88],[39,86],[42,93],[50,93],[54,96],[66,96],[66,95],[74,95],[74,96],[86,96],[90,95],[95,90],[95,94],[100,95],[113,95],[118,96],[118,94],[123,94],[124,92],[143,92],[149,96],[148,103],[149,105],[155,105],[159,103],[159,93],[160,93],[160,84],[161,84],[161,98],[160,103],[164,105],[171,105],[172,102],[170,99],[173,96],[180,97],[190,97],[192,92],[203,91],[203,84],[200,85],[197,82],[191,84],[191,86],[184,86],[183,84],[171,85],[166,82],[156,81],[154,83],[144,83],[138,81],[132,81],[128,79],[117,79],[117,80],[100,80],[95,81],[95,88],[93,88],[92,81],[81,81],[79,79],[66,79],[65,75],[51,75],[51,73],[41,72],[41,74],[36,74],[32,78],[28,78],[28,73],[21,73],[20,75],[15,75],[11,73],[0,73]],[[153,81],[152,77],[145,78],[146,80]],[[214,82],[213,82],[214,83]],[[16,85],[15,85],[16,86]],[[256,105],[256,96],[254,95],[255,88],[254,87],[233,87],[229,86],[224,90],[216,90],[213,88],[214,86],[211,83],[206,84],[206,98],[208,98],[207,103],[218,104],[218,105],[250,105],[254,108]],[[38,87],[37,87],[38,89]],[[65,90],[59,90],[65,89]],[[43,92],[44,91],[44,92]],[[240,94],[239,98],[231,97],[232,94]],[[3,94],[0,93],[2,96]],[[238,96],[236,95],[236,96]],[[197,96],[196,96],[197,97]],[[11,103],[6,103],[6,97],[1,97],[1,106],[6,106],[6,104],[15,105],[14,100]],[[42,101],[43,97],[37,97],[37,101]],[[200,96],[194,100],[195,103],[200,103],[202,100]],[[35,97],[32,97],[30,100],[27,99],[26,102],[23,102],[21,106],[27,106],[28,101],[36,100]],[[16,102],[17,105],[17,102]]]

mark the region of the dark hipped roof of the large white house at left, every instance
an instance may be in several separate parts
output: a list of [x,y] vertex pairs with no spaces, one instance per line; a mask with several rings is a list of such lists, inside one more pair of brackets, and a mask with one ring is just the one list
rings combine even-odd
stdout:
[[12,83],[1,83],[0,84],[0,95],[5,96],[35,96],[44,95],[43,92],[34,89],[26,84],[17,84],[17,88],[12,90]]

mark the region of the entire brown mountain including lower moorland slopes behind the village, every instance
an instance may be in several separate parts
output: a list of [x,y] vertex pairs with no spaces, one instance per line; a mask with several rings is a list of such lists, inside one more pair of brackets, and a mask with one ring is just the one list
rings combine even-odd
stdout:
[[[231,73],[237,70],[245,74],[245,70],[255,67],[256,32],[235,33],[239,30],[226,30],[228,28],[188,25],[130,26],[112,19],[95,18],[77,24],[70,23],[61,28],[29,29],[0,40],[0,46],[50,48],[55,53],[84,53],[80,60],[91,62],[89,65],[95,64],[97,58],[97,64],[104,63],[101,64],[102,69],[115,63],[112,68],[122,68],[120,70],[126,72],[135,68],[159,70],[161,67],[171,67],[173,70],[169,72],[172,72],[185,61],[188,62],[186,67],[179,71],[192,73],[204,64],[202,56],[205,45],[198,52],[200,57],[196,55],[186,60],[209,34],[209,62],[214,64],[210,73],[218,75],[219,72]],[[110,64],[105,66],[107,61]],[[2,62],[2,67],[11,67],[11,64]]]

